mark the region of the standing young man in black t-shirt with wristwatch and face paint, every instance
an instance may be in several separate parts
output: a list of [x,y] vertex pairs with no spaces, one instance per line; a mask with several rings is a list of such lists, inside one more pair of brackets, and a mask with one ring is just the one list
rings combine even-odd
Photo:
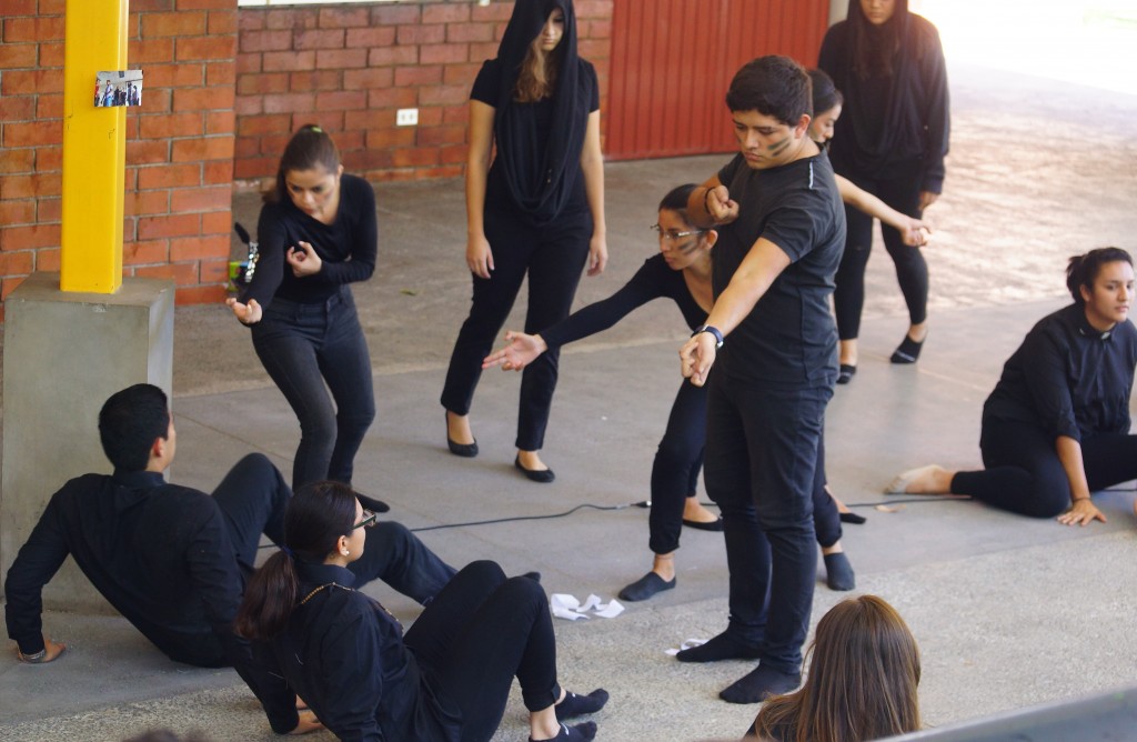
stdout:
[[816,580],[812,492],[825,405],[837,379],[829,311],[845,216],[829,159],[810,139],[810,77],[762,57],[727,96],[740,152],[688,203],[719,231],[714,308],[680,351],[703,385],[712,364],[704,461],[722,509],[730,620],[680,661],[757,659],[720,694],[757,703],[800,682]]

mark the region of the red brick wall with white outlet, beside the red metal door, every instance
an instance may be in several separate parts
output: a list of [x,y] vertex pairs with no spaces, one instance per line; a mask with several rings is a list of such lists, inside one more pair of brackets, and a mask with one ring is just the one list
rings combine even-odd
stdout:
[[[601,93],[612,5],[575,2],[580,51]],[[242,8],[235,178],[272,179],[306,123],[333,135],[346,170],[372,180],[460,174],[470,88],[512,10],[501,0]],[[417,108],[418,125],[396,126],[399,108]]]

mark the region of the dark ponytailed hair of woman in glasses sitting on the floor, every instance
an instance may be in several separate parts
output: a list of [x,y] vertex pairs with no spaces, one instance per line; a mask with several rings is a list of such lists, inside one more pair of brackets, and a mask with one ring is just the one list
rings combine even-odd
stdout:
[[244,588],[233,621],[239,636],[266,640],[284,630],[300,597],[293,560],[323,562],[340,536],[351,535],[355,509],[355,492],[339,481],[297,490],[284,513],[284,549],[269,556]]

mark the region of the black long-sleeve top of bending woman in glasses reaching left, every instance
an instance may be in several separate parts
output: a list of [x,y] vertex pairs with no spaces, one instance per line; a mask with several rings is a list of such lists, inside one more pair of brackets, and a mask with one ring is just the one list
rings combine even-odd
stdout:
[[632,310],[662,297],[675,302],[679,311],[683,313],[683,320],[692,330],[706,323],[707,312],[691,296],[683,272],[667,267],[667,262],[659,254],[647,258],[640,270],[636,271],[636,275],[608,298],[589,304],[553,327],[541,330],[541,339],[550,348],[557,348],[587,338],[607,330],[628,316]]

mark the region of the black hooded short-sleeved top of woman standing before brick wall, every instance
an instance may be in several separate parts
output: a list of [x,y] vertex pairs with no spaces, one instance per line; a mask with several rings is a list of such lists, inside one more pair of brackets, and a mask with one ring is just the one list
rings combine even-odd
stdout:
[[[551,52],[556,88],[534,104],[514,100],[517,76],[530,44],[554,9],[565,30]],[[497,156],[487,183],[487,208],[508,199],[524,219],[545,225],[565,212],[584,209],[580,154],[588,116],[600,107],[596,71],[576,55],[576,16],[571,0],[517,0],[496,59],[482,65],[471,98],[495,108]]]

